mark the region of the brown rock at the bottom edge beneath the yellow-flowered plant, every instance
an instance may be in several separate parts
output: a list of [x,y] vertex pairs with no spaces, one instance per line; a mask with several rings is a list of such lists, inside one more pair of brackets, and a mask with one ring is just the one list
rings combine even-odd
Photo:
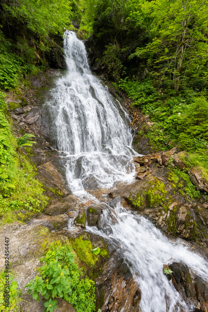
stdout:
[[[40,296],[40,301],[33,300],[32,295],[22,296],[21,301],[21,311],[22,312],[44,312],[44,303],[47,301],[43,296]],[[62,298],[57,298],[57,309],[56,312],[75,312],[73,306],[66,302]]]

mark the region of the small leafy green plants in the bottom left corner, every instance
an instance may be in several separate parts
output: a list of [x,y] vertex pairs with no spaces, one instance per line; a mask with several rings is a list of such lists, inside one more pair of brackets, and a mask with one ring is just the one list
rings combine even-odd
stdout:
[[[14,277],[11,275],[9,276],[9,287],[6,288],[6,279],[5,275],[7,273],[3,272],[0,274],[0,311],[2,312],[17,312],[18,311],[18,306],[20,302],[20,296],[21,293],[20,291],[17,290],[18,285],[16,280],[13,280]],[[6,291],[8,292],[9,295],[9,307],[5,306],[5,297],[6,297]]]

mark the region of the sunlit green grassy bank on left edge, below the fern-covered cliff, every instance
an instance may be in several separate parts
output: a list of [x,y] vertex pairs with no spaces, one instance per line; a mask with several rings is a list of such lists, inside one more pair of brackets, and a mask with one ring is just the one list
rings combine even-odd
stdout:
[[2,222],[11,222],[16,217],[13,210],[27,209],[40,212],[46,206],[41,184],[34,179],[34,168],[27,158],[16,152],[17,141],[13,137],[4,94],[0,93],[0,217]]

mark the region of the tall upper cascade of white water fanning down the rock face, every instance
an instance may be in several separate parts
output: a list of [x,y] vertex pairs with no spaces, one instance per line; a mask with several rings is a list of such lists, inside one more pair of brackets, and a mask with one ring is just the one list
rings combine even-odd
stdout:
[[64,51],[68,71],[53,90],[52,109],[71,190],[133,180],[128,162],[136,153],[129,116],[91,74],[85,45],[74,32],[65,32]]

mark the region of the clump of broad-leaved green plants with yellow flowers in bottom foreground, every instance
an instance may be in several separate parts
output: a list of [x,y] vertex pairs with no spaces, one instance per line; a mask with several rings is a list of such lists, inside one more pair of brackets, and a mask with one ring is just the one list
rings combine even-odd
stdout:
[[[39,292],[47,300],[46,310],[53,311],[56,308],[56,300],[61,297],[70,302],[76,312],[92,312],[94,305],[94,282],[87,277],[80,280],[81,270],[74,262],[75,254],[69,245],[58,245],[55,242],[49,248],[46,256],[42,259],[40,277],[36,276],[30,283],[28,294],[32,292],[33,299],[39,301]],[[53,304],[52,304],[53,302]],[[50,310],[47,310],[51,305]],[[51,309],[52,308],[52,309]]]

